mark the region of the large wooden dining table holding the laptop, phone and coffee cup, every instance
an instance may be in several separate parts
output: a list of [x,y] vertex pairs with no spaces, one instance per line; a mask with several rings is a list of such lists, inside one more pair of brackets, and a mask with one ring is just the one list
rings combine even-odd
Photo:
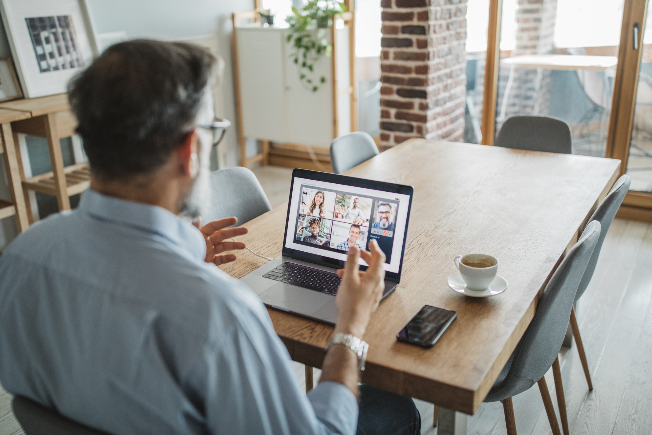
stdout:
[[[486,397],[619,166],[606,158],[413,139],[349,171],[414,186],[402,280],[367,328],[363,382],[443,406],[438,433],[463,433],[462,413],[475,413]],[[280,205],[248,222],[239,240],[259,254],[280,255],[286,211]],[[469,252],[499,259],[506,292],[473,299],[448,288],[453,258]],[[243,277],[263,263],[245,252],[222,269]],[[458,318],[429,350],[397,342],[425,304],[456,310]],[[333,328],[272,308],[269,314],[292,359],[321,367]]]

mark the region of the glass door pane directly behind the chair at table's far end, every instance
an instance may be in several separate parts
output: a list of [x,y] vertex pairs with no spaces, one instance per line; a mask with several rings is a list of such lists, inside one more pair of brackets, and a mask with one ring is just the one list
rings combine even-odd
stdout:
[[574,154],[606,155],[624,3],[502,1],[494,140],[511,116],[548,115]]

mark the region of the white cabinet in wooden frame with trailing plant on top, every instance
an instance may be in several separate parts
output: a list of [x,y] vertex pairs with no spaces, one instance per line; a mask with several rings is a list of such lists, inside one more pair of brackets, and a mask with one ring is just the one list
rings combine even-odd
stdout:
[[[316,92],[299,80],[294,49],[286,40],[289,32],[259,23],[235,27],[241,143],[256,138],[329,147],[333,138],[355,128],[349,26],[340,20],[334,29],[333,57],[323,56],[315,63],[314,76],[326,78]],[[330,40],[332,29],[327,34]]]

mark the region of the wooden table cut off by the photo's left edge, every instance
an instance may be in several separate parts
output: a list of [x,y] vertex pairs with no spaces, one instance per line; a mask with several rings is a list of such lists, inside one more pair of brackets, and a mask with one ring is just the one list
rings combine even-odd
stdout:
[[29,218],[27,215],[27,206],[25,205],[25,196],[21,186],[21,174],[23,168],[20,160],[20,151],[17,144],[14,143],[14,136],[11,130],[12,121],[27,119],[31,115],[16,110],[0,109],[0,154],[4,155],[5,173],[7,173],[7,184],[11,201],[0,200],[0,219],[15,216],[16,229],[19,233],[27,230]]

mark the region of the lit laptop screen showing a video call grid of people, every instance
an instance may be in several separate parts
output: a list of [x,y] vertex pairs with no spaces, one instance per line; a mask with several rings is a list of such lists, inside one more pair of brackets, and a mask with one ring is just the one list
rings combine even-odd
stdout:
[[[319,196],[322,207],[317,207],[319,199],[315,202],[315,207],[312,207],[318,192],[323,192]],[[355,198],[358,203],[354,208],[352,205]],[[387,205],[378,207],[378,203]],[[387,256],[385,270],[398,273],[408,203],[409,196],[404,194],[296,177],[289,210],[286,248],[346,261],[344,249],[350,245],[350,237],[357,237],[355,244],[364,249],[368,249],[370,239],[376,239]],[[343,207],[343,204],[346,206]],[[351,229],[351,224],[357,224],[359,232],[357,228]],[[363,260],[360,263],[366,265]]]

